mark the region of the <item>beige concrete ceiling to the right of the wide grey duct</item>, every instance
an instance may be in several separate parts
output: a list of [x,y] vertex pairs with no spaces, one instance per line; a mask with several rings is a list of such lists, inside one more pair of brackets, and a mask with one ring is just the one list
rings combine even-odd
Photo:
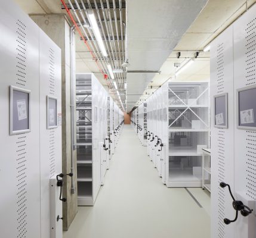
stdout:
[[[256,1],[248,0],[247,7],[251,7]],[[205,8],[198,15],[198,18],[187,29],[181,37],[174,51],[169,55],[161,67],[161,74],[152,77],[146,86],[143,95],[136,105],[141,104],[166,80],[172,81],[205,81],[210,77],[209,52],[201,52],[215,37],[217,37],[227,26],[235,21],[246,11],[245,0],[209,0]],[[180,59],[177,59],[177,52],[181,52]],[[184,62],[194,57],[199,51],[199,57],[195,63],[187,67],[181,74],[175,77],[175,62]],[[152,87],[152,89],[151,89]]]

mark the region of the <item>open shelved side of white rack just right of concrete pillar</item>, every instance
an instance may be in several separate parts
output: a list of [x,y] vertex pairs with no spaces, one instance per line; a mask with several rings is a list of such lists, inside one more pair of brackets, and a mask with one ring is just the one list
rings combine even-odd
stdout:
[[78,203],[93,205],[91,77],[76,77],[76,150]]

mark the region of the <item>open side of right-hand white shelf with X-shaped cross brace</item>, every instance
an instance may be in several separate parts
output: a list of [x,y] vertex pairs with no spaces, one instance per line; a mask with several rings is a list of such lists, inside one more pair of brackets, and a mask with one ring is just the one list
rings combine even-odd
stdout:
[[168,187],[202,186],[209,145],[208,82],[168,83]]

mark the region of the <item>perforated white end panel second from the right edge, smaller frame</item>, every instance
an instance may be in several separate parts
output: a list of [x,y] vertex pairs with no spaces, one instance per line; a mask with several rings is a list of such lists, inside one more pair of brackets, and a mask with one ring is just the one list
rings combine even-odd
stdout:
[[[211,237],[232,238],[234,226],[224,218],[234,217],[232,199],[221,181],[234,188],[233,162],[233,27],[211,43]],[[214,127],[214,96],[228,93],[228,129]]]

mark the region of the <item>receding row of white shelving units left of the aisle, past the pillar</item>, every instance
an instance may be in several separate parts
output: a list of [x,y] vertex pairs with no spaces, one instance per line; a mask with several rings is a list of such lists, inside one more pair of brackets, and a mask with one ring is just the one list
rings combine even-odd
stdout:
[[94,205],[122,121],[121,110],[94,74],[76,74],[78,205]]

